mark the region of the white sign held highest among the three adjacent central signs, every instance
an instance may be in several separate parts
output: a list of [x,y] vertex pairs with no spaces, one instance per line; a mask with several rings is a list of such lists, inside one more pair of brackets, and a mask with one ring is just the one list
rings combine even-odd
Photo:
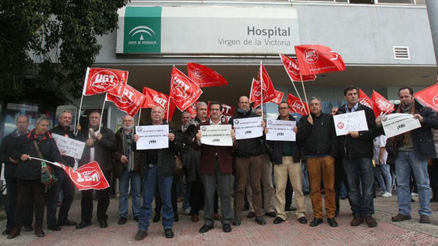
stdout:
[[257,138],[263,135],[262,117],[234,119],[236,139]]

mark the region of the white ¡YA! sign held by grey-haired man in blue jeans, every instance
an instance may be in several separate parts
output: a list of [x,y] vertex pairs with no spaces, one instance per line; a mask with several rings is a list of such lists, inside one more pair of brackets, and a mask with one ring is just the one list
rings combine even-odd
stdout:
[[169,125],[136,126],[137,150],[169,148]]

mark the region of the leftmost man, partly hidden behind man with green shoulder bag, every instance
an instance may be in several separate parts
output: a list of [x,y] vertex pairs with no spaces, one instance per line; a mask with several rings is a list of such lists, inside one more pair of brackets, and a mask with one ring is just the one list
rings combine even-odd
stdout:
[[[12,133],[8,134],[3,138],[0,146],[0,163],[4,163],[4,179],[6,180],[6,229],[3,231],[2,235],[8,235],[14,226],[15,218],[15,204],[17,201],[17,178],[15,177],[15,171],[17,169],[18,160],[14,160],[10,157],[7,150],[14,148],[18,137],[22,134],[27,134],[29,132],[29,119],[27,116],[20,115],[16,119],[16,129]],[[24,217],[24,230],[33,231],[32,228],[32,217],[33,217],[33,206],[29,206]]]

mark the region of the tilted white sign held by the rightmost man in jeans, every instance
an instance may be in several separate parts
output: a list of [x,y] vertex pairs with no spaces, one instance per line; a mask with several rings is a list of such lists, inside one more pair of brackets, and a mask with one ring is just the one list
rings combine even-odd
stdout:
[[420,128],[421,124],[412,114],[395,113],[383,116],[382,126],[386,137],[390,138]]

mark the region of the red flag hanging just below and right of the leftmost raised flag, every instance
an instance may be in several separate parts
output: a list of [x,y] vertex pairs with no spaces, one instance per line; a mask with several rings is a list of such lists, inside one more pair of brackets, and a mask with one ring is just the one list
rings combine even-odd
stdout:
[[112,101],[118,109],[125,111],[130,116],[134,116],[140,110],[145,99],[146,96],[128,84],[122,97],[107,94],[106,98],[107,101]]

